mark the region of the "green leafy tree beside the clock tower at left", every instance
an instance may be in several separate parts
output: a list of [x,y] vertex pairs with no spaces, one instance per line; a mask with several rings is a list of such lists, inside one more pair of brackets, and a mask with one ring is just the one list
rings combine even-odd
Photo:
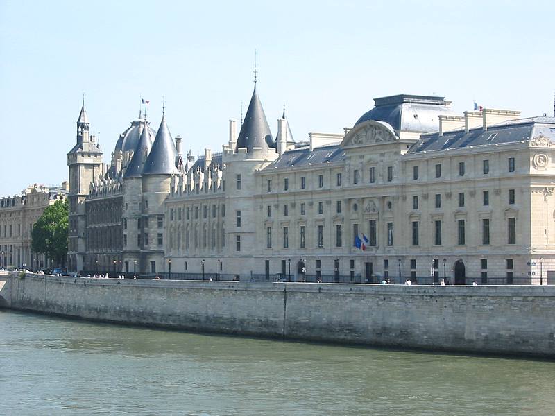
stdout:
[[67,200],[58,200],[44,209],[31,232],[31,249],[53,259],[58,267],[65,264],[68,217]]

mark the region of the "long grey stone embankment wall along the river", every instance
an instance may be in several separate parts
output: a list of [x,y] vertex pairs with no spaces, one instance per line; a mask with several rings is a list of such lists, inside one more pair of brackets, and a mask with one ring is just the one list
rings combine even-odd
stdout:
[[382,286],[0,276],[0,306],[297,340],[555,356],[555,286]]

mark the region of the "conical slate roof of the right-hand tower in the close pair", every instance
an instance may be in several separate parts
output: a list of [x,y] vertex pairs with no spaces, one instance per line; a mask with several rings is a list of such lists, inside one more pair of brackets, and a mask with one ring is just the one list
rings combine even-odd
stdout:
[[171,175],[178,173],[176,168],[176,157],[178,152],[173,144],[173,139],[166,124],[165,116],[162,116],[160,128],[152,145],[151,153],[148,154],[143,168],[143,175]]

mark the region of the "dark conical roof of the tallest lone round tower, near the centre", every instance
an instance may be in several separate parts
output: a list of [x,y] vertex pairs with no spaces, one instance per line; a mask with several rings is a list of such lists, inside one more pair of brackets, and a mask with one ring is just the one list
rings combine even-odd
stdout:
[[248,153],[252,152],[253,148],[262,148],[267,152],[268,142],[272,142],[272,132],[266,121],[266,114],[264,114],[260,98],[258,98],[255,83],[253,97],[250,98],[245,120],[237,138],[237,148],[247,148]]

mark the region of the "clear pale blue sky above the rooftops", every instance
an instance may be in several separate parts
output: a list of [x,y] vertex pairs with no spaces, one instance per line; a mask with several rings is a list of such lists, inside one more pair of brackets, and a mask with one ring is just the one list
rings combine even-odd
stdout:
[[82,94],[109,158],[162,96],[175,137],[221,151],[253,89],[273,134],[341,132],[391,94],[438,94],[457,112],[553,112],[554,1],[0,0],[0,196],[67,178]]

